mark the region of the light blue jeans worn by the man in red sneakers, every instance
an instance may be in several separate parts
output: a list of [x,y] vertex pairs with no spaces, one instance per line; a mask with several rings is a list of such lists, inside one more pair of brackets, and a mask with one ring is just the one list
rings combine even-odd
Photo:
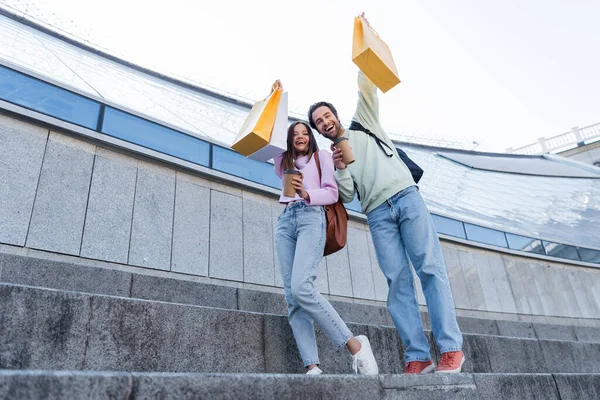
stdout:
[[379,267],[388,281],[387,307],[406,346],[406,362],[431,360],[409,258],[421,280],[440,352],[460,350],[462,334],[442,248],[418,188],[411,186],[390,197],[369,212],[367,220]]

